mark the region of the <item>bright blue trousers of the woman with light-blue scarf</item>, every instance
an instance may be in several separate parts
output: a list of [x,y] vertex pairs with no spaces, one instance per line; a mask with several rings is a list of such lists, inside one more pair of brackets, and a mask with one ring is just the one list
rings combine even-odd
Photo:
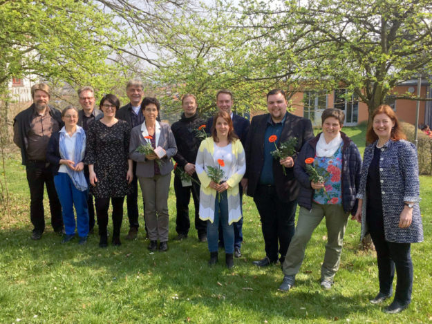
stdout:
[[66,234],[75,234],[75,215],[73,213],[73,207],[75,206],[75,211],[77,212],[78,236],[85,238],[88,236],[88,190],[79,191],[76,189],[68,173],[64,172],[59,172],[55,175],[54,184],[60,204],[62,204],[64,230]]

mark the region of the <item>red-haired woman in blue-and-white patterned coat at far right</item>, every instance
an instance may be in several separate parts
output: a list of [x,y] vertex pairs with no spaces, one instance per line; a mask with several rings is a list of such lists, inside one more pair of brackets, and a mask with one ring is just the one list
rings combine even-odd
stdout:
[[411,243],[423,240],[417,151],[405,140],[390,106],[378,106],[372,120],[366,133],[366,141],[372,144],[364,151],[353,219],[361,222],[361,238],[370,233],[377,251],[379,293],[370,303],[382,303],[392,296],[396,267],[395,298],[384,309],[392,314],[411,303]]

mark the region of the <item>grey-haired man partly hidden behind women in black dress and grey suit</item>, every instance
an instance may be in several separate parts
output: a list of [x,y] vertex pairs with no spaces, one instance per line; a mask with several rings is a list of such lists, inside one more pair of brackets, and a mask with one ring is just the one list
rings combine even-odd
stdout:
[[[119,120],[126,120],[131,129],[144,122],[144,115],[141,110],[142,97],[144,95],[144,85],[139,79],[131,79],[126,84],[126,95],[129,98],[129,104],[122,106],[115,117]],[[131,182],[132,191],[126,196],[127,216],[129,218],[129,233],[127,240],[134,240],[138,236],[138,178],[135,175],[136,162],[133,162],[133,180]],[[144,203],[143,203],[144,204]],[[145,211],[145,208],[144,208]]]

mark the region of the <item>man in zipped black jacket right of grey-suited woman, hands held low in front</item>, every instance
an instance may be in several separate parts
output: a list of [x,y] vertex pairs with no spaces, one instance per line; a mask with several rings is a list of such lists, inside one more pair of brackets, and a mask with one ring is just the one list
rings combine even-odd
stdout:
[[[176,192],[176,231],[178,233],[177,240],[187,238],[189,232],[189,201],[194,199],[195,205],[195,228],[198,231],[198,240],[200,242],[207,241],[207,224],[199,218],[200,209],[200,185],[198,184],[198,176],[195,171],[195,159],[201,140],[198,137],[198,128],[205,124],[205,121],[198,116],[196,112],[198,104],[196,97],[190,93],[182,97],[183,113],[178,122],[171,126],[174,138],[177,144],[177,154],[174,155],[174,160],[177,162],[176,169],[184,170],[196,180],[190,183],[185,183],[180,178],[178,171],[174,175],[174,191]],[[203,130],[204,133],[204,130]]]

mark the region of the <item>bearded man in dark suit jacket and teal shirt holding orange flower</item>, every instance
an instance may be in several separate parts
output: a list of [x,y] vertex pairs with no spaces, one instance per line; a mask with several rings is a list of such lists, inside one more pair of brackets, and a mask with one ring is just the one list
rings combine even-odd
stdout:
[[[246,173],[242,184],[243,188],[247,187],[247,195],[254,198],[261,217],[265,258],[254,261],[259,267],[285,260],[294,235],[299,195],[292,167],[301,146],[313,137],[310,120],[288,113],[287,106],[283,90],[271,90],[267,93],[269,113],[252,118],[247,135]],[[297,137],[295,153],[288,158],[274,159],[270,152],[274,151],[275,144],[279,146],[292,137]]]

